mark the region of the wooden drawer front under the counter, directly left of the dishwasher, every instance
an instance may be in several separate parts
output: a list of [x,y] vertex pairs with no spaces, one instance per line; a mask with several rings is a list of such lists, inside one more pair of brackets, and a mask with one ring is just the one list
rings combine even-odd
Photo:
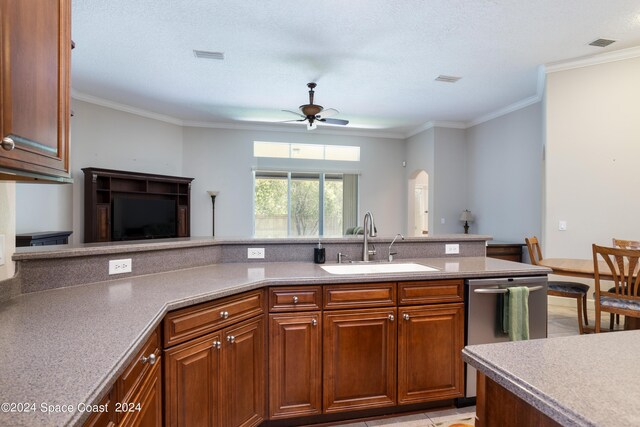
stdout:
[[400,305],[462,302],[464,300],[462,280],[428,280],[398,283]]

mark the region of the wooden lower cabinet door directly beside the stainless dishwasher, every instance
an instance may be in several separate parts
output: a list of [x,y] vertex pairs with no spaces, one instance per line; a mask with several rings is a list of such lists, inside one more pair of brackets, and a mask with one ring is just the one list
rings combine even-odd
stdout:
[[464,305],[398,311],[398,403],[462,397]]

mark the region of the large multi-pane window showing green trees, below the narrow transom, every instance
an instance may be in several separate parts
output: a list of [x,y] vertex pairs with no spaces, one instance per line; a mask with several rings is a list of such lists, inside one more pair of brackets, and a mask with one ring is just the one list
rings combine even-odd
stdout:
[[256,237],[341,236],[357,222],[358,176],[256,171]]

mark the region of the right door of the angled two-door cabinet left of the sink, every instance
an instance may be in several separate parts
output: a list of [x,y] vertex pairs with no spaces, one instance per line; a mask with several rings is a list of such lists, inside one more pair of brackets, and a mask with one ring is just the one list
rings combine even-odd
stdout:
[[255,320],[224,330],[222,342],[223,427],[259,425],[266,413],[264,320]]

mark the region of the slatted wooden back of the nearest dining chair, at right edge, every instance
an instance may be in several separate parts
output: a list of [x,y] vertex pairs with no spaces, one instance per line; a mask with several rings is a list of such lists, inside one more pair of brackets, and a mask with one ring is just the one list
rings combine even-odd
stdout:
[[[602,258],[613,277],[614,287],[608,291],[600,289],[600,263]],[[596,304],[600,296],[619,299],[640,300],[640,249],[607,248],[593,245],[593,269],[595,272]]]

